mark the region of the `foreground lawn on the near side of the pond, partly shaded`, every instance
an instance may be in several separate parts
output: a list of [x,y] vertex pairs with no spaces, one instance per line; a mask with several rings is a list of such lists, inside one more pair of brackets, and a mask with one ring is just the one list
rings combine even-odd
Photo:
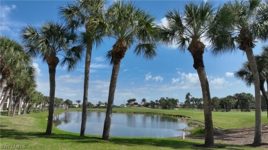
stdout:
[[[63,111],[56,111],[56,113],[60,112]],[[55,127],[52,136],[45,136],[47,113],[0,116],[1,149],[14,146],[25,149],[200,149],[193,145],[203,144],[201,140],[182,140],[181,138],[112,137],[111,140],[104,141],[100,140],[100,136],[80,137],[79,134],[64,132]],[[256,149],[238,145],[217,145],[225,149]]]

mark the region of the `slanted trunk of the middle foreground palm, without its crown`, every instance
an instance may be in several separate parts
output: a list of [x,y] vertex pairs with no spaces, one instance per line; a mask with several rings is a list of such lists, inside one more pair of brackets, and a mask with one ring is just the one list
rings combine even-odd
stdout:
[[110,136],[111,116],[112,116],[112,111],[113,111],[113,99],[115,97],[115,88],[116,88],[116,84],[118,82],[118,73],[120,70],[120,62],[121,62],[121,60],[118,60],[118,61],[114,61],[114,63],[113,63],[113,71],[111,74],[111,82],[110,82],[110,86],[109,86],[107,112],[106,112],[106,117],[105,117],[105,121],[104,121],[103,133],[102,133],[103,140],[109,140],[109,136]]

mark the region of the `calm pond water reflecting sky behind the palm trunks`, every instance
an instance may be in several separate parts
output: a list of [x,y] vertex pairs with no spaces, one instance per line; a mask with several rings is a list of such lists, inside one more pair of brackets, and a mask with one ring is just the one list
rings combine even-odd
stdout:
[[[54,116],[54,125],[67,132],[80,133],[82,112],[64,112]],[[102,136],[105,112],[87,112],[86,134]],[[181,129],[191,129],[180,118],[154,114],[113,113],[110,136],[175,137]],[[187,133],[186,133],[187,134]]]

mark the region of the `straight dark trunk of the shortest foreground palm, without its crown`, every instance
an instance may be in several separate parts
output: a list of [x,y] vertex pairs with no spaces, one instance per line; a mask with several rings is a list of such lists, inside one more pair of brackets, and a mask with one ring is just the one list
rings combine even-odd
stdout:
[[[55,103],[55,89],[56,89],[56,82],[55,82],[55,75],[56,75],[56,65],[51,65],[47,63],[49,66],[49,112],[47,118],[47,130],[45,134],[51,135],[52,134],[52,125],[53,125],[53,114],[54,114],[54,103]],[[58,63],[56,63],[58,64]]]

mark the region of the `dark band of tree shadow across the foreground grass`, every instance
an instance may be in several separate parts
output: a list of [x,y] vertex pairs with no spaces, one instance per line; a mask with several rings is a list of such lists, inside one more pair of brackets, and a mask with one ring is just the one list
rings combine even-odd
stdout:
[[[79,136],[78,134],[52,134],[45,135],[44,132],[21,132],[16,129],[1,129],[0,138],[10,138],[15,140],[33,140],[36,138],[49,138],[49,139],[57,139],[57,140],[71,140],[76,143],[93,143],[93,142],[111,142],[114,145],[126,145],[128,147],[139,147],[140,145],[144,146],[153,146],[153,147],[170,147],[172,149],[201,149],[201,147],[197,147],[199,142],[191,141],[191,140],[181,140],[181,139],[166,139],[166,138],[111,138],[109,141],[104,141],[99,137],[93,136]],[[201,145],[201,144],[200,144]],[[226,149],[230,150],[241,150],[241,146],[232,145],[232,147],[228,147],[230,145],[221,145],[221,147],[227,147]],[[205,149],[203,147],[203,149]]]

